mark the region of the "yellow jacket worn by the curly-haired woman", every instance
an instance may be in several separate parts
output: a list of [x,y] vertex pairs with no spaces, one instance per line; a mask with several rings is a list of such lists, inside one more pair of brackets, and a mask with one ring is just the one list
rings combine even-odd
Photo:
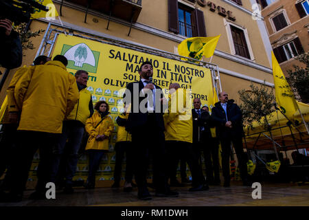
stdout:
[[[102,122],[101,120],[102,118],[98,111],[95,111],[91,118],[87,119],[85,129],[87,133],[89,133],[89,138],[85,150],[108,150],[109,138],[98,141],[95,140],[95,137],[98,135],[106,135],[107,137],[110,137],[114,129],[114,123],[111,117],[109,117],[109,114],[104,117]],[[95,126],[97,127],[95,128]]]

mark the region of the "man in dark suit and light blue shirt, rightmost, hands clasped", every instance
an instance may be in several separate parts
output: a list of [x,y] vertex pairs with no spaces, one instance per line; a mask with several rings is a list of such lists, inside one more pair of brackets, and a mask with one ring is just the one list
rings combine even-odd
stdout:
[[247,177],[247,163],[242,146],[242,111],[234,100],[229,100],[227,93],[219,94],[220,102],[211,110],[211,117],[216,121],[216,135],[219,137],[222,147],[222,173],[225,178],[224,186],[230,186],[229,157],[231,154],[231,142],[235,148],[240,177],[244,186],[251,186]]

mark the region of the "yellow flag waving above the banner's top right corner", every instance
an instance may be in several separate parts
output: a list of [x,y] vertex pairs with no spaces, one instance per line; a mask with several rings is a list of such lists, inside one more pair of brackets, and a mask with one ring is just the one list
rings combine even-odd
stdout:
[[214,55],[220,35],[185,39],[185,41],[178,45],[179,55],[199,61],[201,61],[203,56],[206,58],[211,57]]

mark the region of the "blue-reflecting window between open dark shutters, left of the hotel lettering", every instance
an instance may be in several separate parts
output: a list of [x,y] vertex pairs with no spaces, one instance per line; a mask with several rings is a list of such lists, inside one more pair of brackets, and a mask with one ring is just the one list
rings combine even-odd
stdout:
[[187,10],[179,6],[179,34],[187,37],[195,36],[195,26],[193,23],[192,10]]

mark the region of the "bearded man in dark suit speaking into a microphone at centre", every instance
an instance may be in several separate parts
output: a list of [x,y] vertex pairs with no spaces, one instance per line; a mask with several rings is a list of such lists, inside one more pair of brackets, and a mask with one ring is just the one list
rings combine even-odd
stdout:
[[158,197],[177,197],[178,192],[170,190],[165,173],[165,136],[163,121],[163,93],[152,83],[152,63],[146,61],[139,68],[141,80],[128,83],[124,102],[130,104],[126,130],[132,134],[133,155],[135,155],[135,180],[139,199],[151,199],[147,188],[147,170],[152,157],[153,183]]

